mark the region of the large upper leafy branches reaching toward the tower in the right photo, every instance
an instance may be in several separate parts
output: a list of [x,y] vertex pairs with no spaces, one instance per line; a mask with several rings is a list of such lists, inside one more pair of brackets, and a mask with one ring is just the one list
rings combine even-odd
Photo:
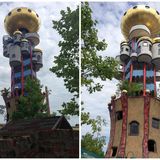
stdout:
[[95,78],[105,81],[112,79],[117,74],[117,61],[113,57],[102,57],[98,51],[107,47],[105,40],[98,39],[97,21],[92,19],[92,10],[88,2],[82,2],[81,7],[81,81],[90,93],[101,91],[102,85],[95,83]]

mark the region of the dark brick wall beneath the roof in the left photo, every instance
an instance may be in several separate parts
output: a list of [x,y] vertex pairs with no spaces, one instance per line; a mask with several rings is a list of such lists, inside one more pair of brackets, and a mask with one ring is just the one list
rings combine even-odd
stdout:
[[79,157],[78,131],[56,129],[11,136],[0,140],[1,158]]

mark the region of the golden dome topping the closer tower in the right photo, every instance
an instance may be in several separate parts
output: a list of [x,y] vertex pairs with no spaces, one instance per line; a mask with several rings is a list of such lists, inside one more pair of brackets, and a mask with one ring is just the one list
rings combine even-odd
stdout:
[[122,17],[121,31],[127,40],[131,28],[135,25],[145,25],[150,30],[151,37],[154,38],[160,33],[160,15],[149,6],[137,5],[130,8]]

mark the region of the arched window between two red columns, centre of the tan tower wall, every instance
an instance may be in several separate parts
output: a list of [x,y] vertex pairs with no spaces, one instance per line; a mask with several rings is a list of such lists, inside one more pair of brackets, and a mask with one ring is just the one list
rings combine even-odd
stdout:
[[137,136],[139,134],[139,123],[138,122],[136,121],[130,122],[129,127],[130,127],[130,130],[129,130],[130,136]]

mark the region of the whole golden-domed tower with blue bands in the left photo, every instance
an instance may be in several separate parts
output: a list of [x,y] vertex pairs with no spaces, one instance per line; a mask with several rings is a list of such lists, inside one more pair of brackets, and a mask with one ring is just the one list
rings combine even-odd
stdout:
[[3,56],[9,58],[11,67],[11,93],[2,93],[7,108],[7,120],[16,109],[16,99],[25,96],[25,80],[36,78],[43,66],[39,44],[39,15],[26,7],[15,8],[4,19],[8,35],[3,36]]

